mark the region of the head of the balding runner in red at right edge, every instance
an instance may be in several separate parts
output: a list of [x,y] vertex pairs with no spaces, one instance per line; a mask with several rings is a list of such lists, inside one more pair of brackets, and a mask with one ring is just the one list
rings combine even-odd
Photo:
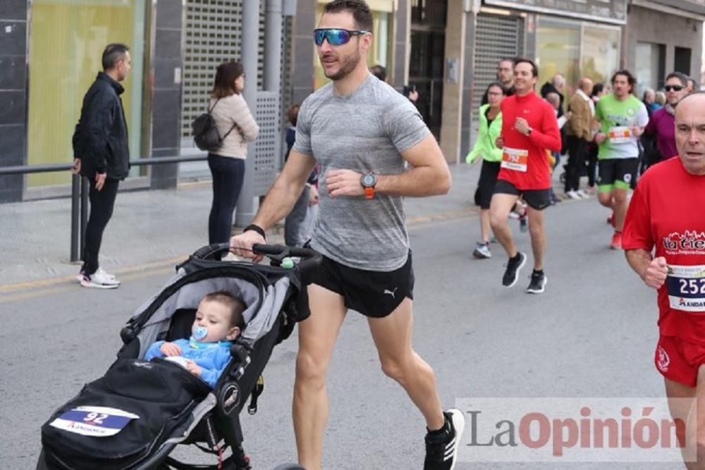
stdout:
[[693,92],[678,103],[675,147],[688,173],[705,175],[705,92]]

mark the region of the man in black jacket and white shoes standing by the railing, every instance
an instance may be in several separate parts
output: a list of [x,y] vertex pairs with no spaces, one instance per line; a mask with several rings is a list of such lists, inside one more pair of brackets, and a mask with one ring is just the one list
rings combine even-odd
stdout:
[[90,216],[85,232],[83,266],[78,280],[83,287],[114,289],[115,276],[99,267],[103,230],[113,214],[118,184],[130,171],[128,129],[119,82],[130,73],[130,52],[125,44],[108,44],[103,71],[83,97],[81,117],[73,134],[74,172],[91,182]]

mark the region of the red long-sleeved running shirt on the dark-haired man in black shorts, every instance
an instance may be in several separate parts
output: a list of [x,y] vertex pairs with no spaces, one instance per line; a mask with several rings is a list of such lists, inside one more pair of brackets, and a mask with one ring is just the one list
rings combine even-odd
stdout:
[[[528,151],[528,158],[522,161],[525,171],[506,168],[503,162],[497,178],[512,183],[517,190],[547,190],[551,187],[551,168],[546,149],[560,151],[556,111],[534,91],[523,97],[516,94],[506,97],[500,106],[505,149]],[[529,123],[532,128],[529,137],[514,129],[517,118],[525,118]]]

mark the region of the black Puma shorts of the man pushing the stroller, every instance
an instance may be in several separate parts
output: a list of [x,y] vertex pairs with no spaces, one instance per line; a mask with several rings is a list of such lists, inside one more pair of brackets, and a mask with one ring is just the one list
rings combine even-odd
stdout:
[[414,299],[411,250],[404,266],[394,271],[350,268],[323,256],[312,282],[342,295],[348,309],[381,319],[399,307],[405,297]]

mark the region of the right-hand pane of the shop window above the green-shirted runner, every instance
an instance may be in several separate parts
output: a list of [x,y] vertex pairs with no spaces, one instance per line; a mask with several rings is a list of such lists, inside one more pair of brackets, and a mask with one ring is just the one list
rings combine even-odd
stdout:
[[617,29],[584,25],[581,76],[595,83],[608,82],[619,67],[619,42]]

